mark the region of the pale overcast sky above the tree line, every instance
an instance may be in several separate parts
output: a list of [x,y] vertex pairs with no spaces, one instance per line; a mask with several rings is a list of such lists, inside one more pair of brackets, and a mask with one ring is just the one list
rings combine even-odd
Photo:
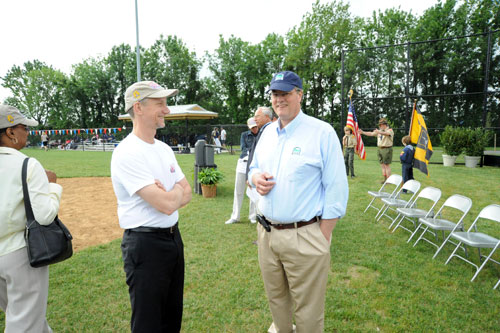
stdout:
[[[138,0],[139,41],[147,48],[160,34],[176,35],[202,56],[218,47],[220,34],[251,43],[260,42],[271,32],[284,35],[311,11],[314,2]],[[373,11],[392,7],[421,15],[437,0],[348,2],[351,13],[368,17]],[[134,0],[6,0],[0,10],[0,76],[13,65],[34,59],[69,74],[72,65],[105,56],[114,45],[136,45]],[[0,101],[8,95],[9,91],[0,87]]]

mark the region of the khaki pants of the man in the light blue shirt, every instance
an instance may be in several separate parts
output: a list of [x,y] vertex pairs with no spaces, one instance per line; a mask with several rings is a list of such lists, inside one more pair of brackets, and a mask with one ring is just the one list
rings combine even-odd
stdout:
[[313,223],[271,232],[258,224],[259,265],[276,332],[323,332],[330,243]]

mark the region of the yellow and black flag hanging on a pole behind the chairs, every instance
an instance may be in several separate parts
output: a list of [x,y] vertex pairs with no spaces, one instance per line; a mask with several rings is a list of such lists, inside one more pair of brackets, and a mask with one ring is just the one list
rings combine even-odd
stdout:
[[416,144],[413,166],[429,177],[429,160],[432,156],[432,144],[427,132],[424,117],[417,108],[417,102],[413,104],[413,113],[410,124],[410,140]]

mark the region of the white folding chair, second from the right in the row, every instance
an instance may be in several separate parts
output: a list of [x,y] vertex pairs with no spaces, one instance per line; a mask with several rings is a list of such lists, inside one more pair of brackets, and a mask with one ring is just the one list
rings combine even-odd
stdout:
[[[444,244],[446,244],[446,242],[450,239],[451,234],[454,231],[456,231],[456,230],[464,231],[463,220],[465,218],[465,215],[467,215],[467,213],[469,212],[471,207],[472,207],[472,200],[463,196],[463,195],[460,195],[460,194],[454,194],[451,197],[449,197],[448,199],[446,199],[446,201],[443,203],[441,208],[439,208],[438,212],[436,213],[436,215],[434,217],[421,217],[418,219],[419,224],[418,224],[415,232],[417,232],[417,230],[420,228],[424,229],[424,231],[422,231],[422,233],[420,234],[420,237],[418,237],[415,244],[413,244],[413,247],[415,247],[420,240],[426,241],[427,243],[432,244],[437,248],[437,251],[436,251],[436,253],[434,253],[434,256],[432,257],[432,259],[436,258],[436,256],[441,251],[441,249],[444,247]],[[461,212],[461,216],[457,222],[451,221],[450,218],[448,218],[448,219],[442,218],[443,217],[443,209],[446,209],[446,208],[454,208],[454,209],[459,210]],[[447,215],[449,215],[449,214],[447,214]],[[432,229],[434,231],[430,231],[429,229]],[[424,235],[427,231],[434,234],[434,236],[436,237],[436,241],[438,239],[437,232],[441,231],[443,233],[444,240],[443,240],[443,243],[441,244],[441,246],[437,245],[436,243],[434,243],[430,239],[427,239],[424,237]],[[446,238],[444,238],[445,231],[450,232],[450,234]],[[456,243],[453,243],[453,244],[456,244]]]

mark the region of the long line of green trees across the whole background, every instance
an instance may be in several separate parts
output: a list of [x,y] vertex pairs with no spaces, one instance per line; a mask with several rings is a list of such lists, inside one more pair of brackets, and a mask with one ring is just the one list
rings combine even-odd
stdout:
[[[337,128],[345,123],[341,101],[347,103],[341,96],[342,77],[344,94],[355,92],[363,128],[373,127],[381,115],[392,126],[404,127],[405,95],[440,96],[420,99],[429,127],[478,126],[484,103],[487,126],[500,127],[494,93],[500,90],[500,33],[453,38],[498,30],[499,8],[495,0],[446,0],[421,16],[392,8],[361,18],[342,1],[318,1],[284,36],[271,33],[257,44],[221,36],[218,48],[201,57],[180,38],[160,35],[140,49],[141,74],[144,80],[178,88],[176,104],[218,112],[214,121],[221,124],[245,123],[257,106],[269,105],[266,87],[272,74],[293,70],[303,79],[303,111]],[[407,47],[408,42],[443,38],[449,39]],[[392,44],[399,46],[376,48]],[[487,65],[492,93],[484,99]],[[44,129],[117,127],[118,115],[125,112],[125,90],[136,77],[135,49],[126,44],[73,65],[69,74],[35,59],[12,66],[1,77],[11,92],[3,103],[24,110]],[[451,96],[457,93],[462,96]]]

